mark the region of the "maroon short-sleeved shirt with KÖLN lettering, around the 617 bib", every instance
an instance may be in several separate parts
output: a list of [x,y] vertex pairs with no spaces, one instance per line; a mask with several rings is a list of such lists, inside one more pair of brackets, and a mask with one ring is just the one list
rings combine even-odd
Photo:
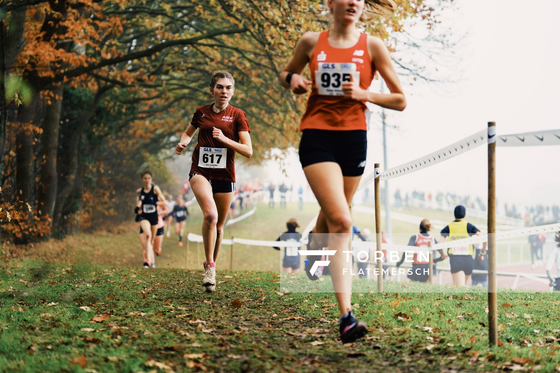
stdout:
[[[193,152],[193,165],[190,173],[197,173],[211,180],[235,182],[235,151],[226,144],[212,137],[214,127],[222,130],[224,136],[239,143],[239,131],[251,132],[245,112],[237,107],[228,105],[226,110],[214,112],[211,105],[197,107],[193,120],[190,122],[198,128],[198,144]],[[199,166],[200,148],[226,148],[226,168],[207,168]],[[213,160],[213,158],[212,158]]]

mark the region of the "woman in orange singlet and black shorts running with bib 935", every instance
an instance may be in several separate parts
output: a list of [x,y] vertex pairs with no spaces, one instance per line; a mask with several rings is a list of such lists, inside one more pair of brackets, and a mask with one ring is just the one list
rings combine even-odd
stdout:
[[[281,83],[298,95],[311,91],[301,119],[299,154],[321,211],[308,249],[328,246],[337,250],[329,257],[329,271],[340,309],[340,337],[348,343],[367,330],[351,311],[352,277],[348,268],[352,263],[343,253],[352,229],[348,206],[366,164],[366,102],[399,111],[407,103],[382,40],[356,28],[358,21],[393,13],[393,0],[328,0],[327,6],[333,16],[332,27],[301,37],[282,71]],[[308,63],[311,81],[301,75]],[[367,91],[376,70],[391,93]],[[329,235],[326,238],[318,233]],[[306,268],[308,276],[311,266],[312,261]]]

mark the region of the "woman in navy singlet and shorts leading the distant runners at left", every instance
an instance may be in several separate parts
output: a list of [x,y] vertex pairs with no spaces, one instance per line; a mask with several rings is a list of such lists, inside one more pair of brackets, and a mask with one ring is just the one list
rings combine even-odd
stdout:
[[[138,201],[134,207],[134,213],[140,215],[140,228],[143,231],[144,239],[142,251],[144,253],[153,252],[153,242],[156,238],[157,225],[159,224],[157,214],[157,204],[165,205],[164,193],[160,187],[153,185],[152,174],[148,171],[142,173],[142,187],[136,191]],[[144,255],[144,258],[149,256]],[[151,262],[144,262],[143,266],[150,266]]]

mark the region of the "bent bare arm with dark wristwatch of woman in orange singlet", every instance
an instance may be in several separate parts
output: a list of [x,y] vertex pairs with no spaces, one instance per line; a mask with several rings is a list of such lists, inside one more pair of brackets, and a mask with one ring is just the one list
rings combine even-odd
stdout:
[[[301,72],[305,69],[307,63],[309,63],[309,56],[315,49],[315,45],[319,40],[319,32],[305,32],[301,36],[300,41],[297,42],[296,48],[293,51],[293,56],[290,62],[284,67],[282,73],[280,73],[280,84],[283,88],[291,89],[296,95],[301,95],[302,93],[309,92],[309,86],[311,81],[301,76]],[[290,83],[286,82],[286,77],[288,73],[292,74]]]

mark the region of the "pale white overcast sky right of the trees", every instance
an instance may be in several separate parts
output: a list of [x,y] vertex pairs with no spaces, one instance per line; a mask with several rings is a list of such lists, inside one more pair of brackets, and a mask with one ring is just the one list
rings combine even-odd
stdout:
[[[442,15],[442,26],[454,37],[466,35],[452,60],[458,83],[440,89],[427,84],[405,86],[407,108],[390,112],[389,168],[431,153],[486,128],[496,121],[497,134],[560,129],[560,52],[557,15],[560,2],[544,0],[538,7],[511,0],[456,0],[454,11]],[[421,32],[421,31],[419,31]],[[449,60],[448,60],[449,62]],[[368,133],[366,173],[383,165],[379,117]],[[426,170],[389,181],[395,188],[451,191],[487,196],[486,147]],[[304,176],[297,156],[288,176]],[[516,204],[560,205],[560,145],[498,148],[497,196]],[[383,167],[382,167],[383,168]],[[271,177],[282,178],[275,165]]]

